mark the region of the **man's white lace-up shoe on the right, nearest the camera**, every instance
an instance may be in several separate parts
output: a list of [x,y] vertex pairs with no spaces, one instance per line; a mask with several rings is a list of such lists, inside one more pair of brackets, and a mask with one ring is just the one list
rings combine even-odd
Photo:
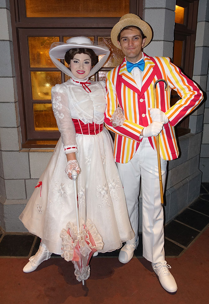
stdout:
[[169,268],[171,268],[171,266],[168,265],[166,261],[161,261],[159,263],[152,263],[152,268],[155,271],[155,273],[158,275],[160,284],[166,291],[168,292],[177,291],[176,281],[169,271]]

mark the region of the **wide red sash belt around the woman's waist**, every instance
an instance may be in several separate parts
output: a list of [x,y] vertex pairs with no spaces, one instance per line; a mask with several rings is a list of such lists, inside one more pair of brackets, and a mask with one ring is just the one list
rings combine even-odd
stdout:
[[76,133],[85,135],[96,135],[99,134],[104,127],[104,124],[84,124],[80,119],[72,118]]

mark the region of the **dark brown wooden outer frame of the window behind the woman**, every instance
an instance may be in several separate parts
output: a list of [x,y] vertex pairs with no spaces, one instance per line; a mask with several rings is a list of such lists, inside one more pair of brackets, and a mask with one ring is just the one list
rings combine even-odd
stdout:
[[[138,14],[142,16],[143,0],[130,0],[130,13]],[[20,126],[21,126],[21,147],[22,148],[37,148],[37,147],[55,147],[57,140],[59,138],[59,132],[54,132],[57,134],[57,138],[37,138],[30,139],[27,136],[27,124],[26,124],[26,106],[25,106],[25,95],[24,95],[24,79],[23,79],[23,67],[21,61],[21,29],[28,29],[34,31],[39,30],[50,30],[54,29],[54,24],[56,24],[56,29],[63,30],[73,30],[74,33],[86,30],[106,30],[104,36],[110,36],[110,31],[113,26],[119,21],[120,17],[63,17],[63,18],[31,18],[26,17],[26,6],[24,0],[10,0],[10,12],[12,21],[12,36],[13,36],[13,49],[14,49],[14,64],[16,69],[16,82],[17,82],[17,92],[18,92],[18,105],[19,105],[19,115],[20,115]],[[107,34],[109,33],[109,34]],[[68,33],[69,35],[69,33]],[[77,35],[81,35],[81,32]],[[100,34],[101,35],[101,34]],[[29,35],[32,36],[32,35]],[[44,35],[39,35],[44,36]],[[54,34],[53,34],[54,36]],[[67,35],[65,35],[67,36]],[[95,35],[91,35],[95,36]],[[26,41],[25,41],[26,43]],[[29,52],[27,52],[27,62],[29,64]],[[108,71],[110,68],[103,68],[104,71]],[[44,70],[47,70],[44,69]],[[52,71],[52,69],[50,68]],[[54,68],[57,71],[56,68]],[[31,94],[31,92],[30,92]],[[46,101],[45,103],[47,103]],[[30,128],[30,127],[29,127]],[[45,133],[46,134],[46,133]],[[56,136],[55,136],[56,137]]]

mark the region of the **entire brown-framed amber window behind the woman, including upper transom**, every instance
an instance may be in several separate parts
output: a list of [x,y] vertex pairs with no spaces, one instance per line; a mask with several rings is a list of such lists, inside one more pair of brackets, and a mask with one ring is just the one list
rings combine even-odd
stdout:
[[105,80],[106,72],[123,59],[111,43],[111,29],[126,13],[142,16],[143,0],[10,2],[22,147],[54,147],[60,133],[51,105],[51,88],[69,77],[52,63],[50,45],[81,35],[106,44],[111,49],[108,62],[91,77],[94,81]]

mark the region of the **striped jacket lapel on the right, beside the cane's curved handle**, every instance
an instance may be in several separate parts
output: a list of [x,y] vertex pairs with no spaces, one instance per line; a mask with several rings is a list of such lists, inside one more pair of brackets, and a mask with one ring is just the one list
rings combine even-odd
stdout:
[[144,54],[144,61],[145,61],[145,67],[142,78],[142,89],[140,95],[146,92],[157,72],[157,67],[155,63],[146,54]]

